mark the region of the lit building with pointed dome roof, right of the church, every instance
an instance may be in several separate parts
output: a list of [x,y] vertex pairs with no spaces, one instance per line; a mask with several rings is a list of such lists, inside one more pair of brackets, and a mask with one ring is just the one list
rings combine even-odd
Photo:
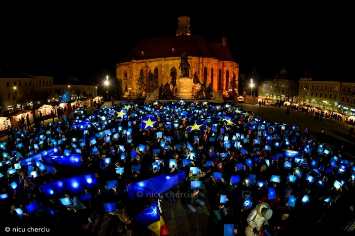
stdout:
[[298,102],[298,85],[291,79],[287,79],[288,71],[285,68],[275,76],[273,80],[262,82],[259,87],[259,97],[272,99],[273,101]]

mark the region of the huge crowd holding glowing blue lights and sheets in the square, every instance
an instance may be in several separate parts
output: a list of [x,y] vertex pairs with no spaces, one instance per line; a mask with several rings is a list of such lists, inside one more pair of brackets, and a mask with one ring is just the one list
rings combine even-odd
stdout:
[[[295,222],[321,224],[332,209],[353,206],[353,162],[344,158],[343,146],[329,148],[322,131],[314,141],[308,129],[207,101],[120,103],[86,115],[76,110],[47,126],[9,128],[11,138],[0,144],[1,212],[16,225],[46,222],[60,231],[109,213],[118,217],[119,232],[135,233],[144,227],[134,215],[154,201],[168,201],[185,205],[189,214],[208,207],[216,228],[232,223],[236,235],[290,235]],[[142,117],[151,117],[152,125],[142,128]],[[75,125],[83,120],[90,125]],[[48,165],[48,157],[31,168],[20,165],[21,159],[53,148],[58,155],[80,154],[80,166]],[[157,196],[132,201],[127,193],[131,183],[182,171],[186,178]],[[68,189],[62,196],[41,189],[83,174],[94,174],[98,187]],[[118,184],[108,186],[109,180]],[[92,197],[82,197],[89,193]],[[66,205],[64,198],[70,201]],[[116,203],[116,209],[108,211],[103,203]]]

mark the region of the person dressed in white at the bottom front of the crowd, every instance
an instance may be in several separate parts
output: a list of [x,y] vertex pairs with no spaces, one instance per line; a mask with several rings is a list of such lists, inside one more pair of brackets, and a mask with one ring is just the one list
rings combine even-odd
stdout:
[[258,236],[265,225],[269,225],[268,220],[272,216],[272,210],[267,203],[258,204],[246,218],[246,236]]

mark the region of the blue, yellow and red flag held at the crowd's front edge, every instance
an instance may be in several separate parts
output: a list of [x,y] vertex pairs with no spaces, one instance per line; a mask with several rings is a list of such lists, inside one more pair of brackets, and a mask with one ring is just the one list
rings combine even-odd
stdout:
[[153,203],[153,205],[146,208],[144,211],[140,212],[136,217],[134,217],[134,219],[141,225],[148,227],[158,236],[169,233],[163,218],[160,216],[158,201]]

